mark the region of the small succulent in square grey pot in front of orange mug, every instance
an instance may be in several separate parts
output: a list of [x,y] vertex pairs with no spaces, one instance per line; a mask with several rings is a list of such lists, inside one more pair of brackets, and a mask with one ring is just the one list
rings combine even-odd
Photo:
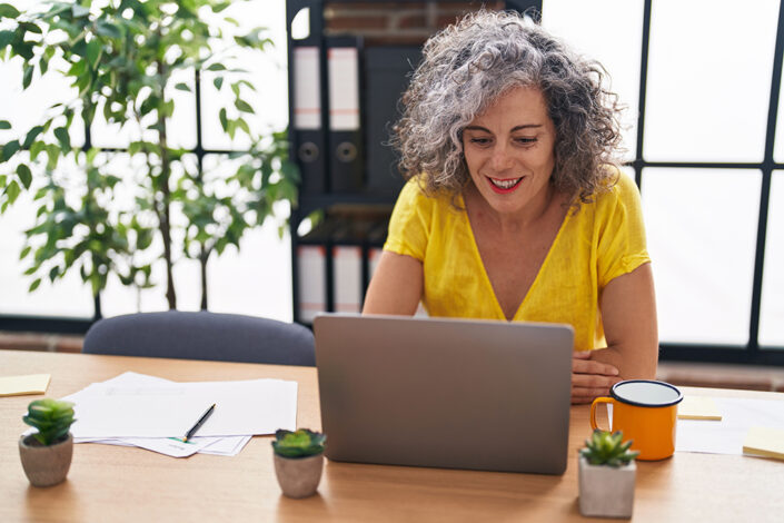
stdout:
[[579,451],[579,512],[585,516],[632,517],[639,454],[623,433],[596,430]]

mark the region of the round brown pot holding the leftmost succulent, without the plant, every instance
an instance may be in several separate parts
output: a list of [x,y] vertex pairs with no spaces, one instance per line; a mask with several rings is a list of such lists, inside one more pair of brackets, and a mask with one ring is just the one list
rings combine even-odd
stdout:
[[27,478],[33,486],[51,486],[62,482],[71,467],[73,455],[73,436],[53,445],[41,445],[38,440],[29,436],[19,438],[19,457]]

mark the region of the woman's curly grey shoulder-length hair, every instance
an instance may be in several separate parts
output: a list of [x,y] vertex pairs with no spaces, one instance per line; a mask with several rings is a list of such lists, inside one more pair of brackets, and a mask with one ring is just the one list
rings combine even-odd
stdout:
[[588,203],[618,165],[621,106],[602,87],[605,69],[516,12],[477,11],[433,36],[424,48],[391,139],[405,178],[424,174],[428,193],[456,196],[470,179],[463,129],[508,89],[536,87],[556,129],[550,181]]

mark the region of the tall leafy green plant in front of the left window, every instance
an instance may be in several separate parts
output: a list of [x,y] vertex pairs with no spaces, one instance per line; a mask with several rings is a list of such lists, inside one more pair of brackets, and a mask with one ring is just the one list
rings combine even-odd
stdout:
[[[264,28],[231,29],[239,26],[224,13],[231,3],[69,0],[47,2],[44,10],[0,3],[0,59],[20,63],[22,88],[58,69],[75,92],[30,129],[13,129],[0,115],[0,214],[24,189],[36,190],[39,205],[21,253],[31,292],[42,279],[53,283],[78,270],[99,317],[110,275],[147,288],[156,279],[151,265],[162,259],[166,298],[177,308],[172,268],[189,257],[201,265],[207,308],[210,257],[239,248],[246,230],[274,216],[275,201],[296,200],[298,172],[285,135],[261,136],[249,125],[251,97],[258,95],[235,52],[265,52],[272,42]],[[227,95],[214,124],[231,140],[250,144],[220,162],[230,166],[228,175],[210,176],[190,151],[172,146],[172,93],[205,82]],[[128,131],[128,148],[91,148],[89,130],[98,119]],[[87,130],[83,148],[71,144],[79,126]],[[132,179],[112,167],[111,157],[119,155],[132,165]],[[117,194],[130,197],[120,204]]]

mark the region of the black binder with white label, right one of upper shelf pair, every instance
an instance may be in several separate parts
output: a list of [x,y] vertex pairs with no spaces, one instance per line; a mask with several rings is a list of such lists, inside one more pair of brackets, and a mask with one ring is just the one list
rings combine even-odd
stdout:
[[360,112],[361,39],[327,40],[329,83],[329,180],[334,193],[363,189],[365,155]]

